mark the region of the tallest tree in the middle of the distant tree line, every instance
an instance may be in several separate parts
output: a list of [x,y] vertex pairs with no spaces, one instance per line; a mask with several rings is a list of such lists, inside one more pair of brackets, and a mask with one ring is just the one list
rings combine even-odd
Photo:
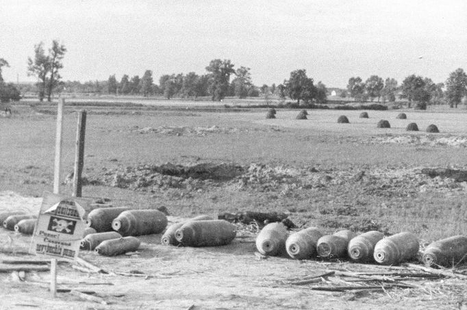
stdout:
[[206,67],[207,72],[211,72],[212,80],[209,86],[209,92],[212,96],[212,101],[220,101],[225,98],[225,94],[229,89],[230,74],[234,73],[234,64],[230,60],[213,59],[209,66]]

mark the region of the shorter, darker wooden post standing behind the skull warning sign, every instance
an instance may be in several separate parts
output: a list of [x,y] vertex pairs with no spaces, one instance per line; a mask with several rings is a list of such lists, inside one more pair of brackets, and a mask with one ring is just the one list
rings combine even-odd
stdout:
[[84,166],[84,136],[86,134],[86,110],[79,112],[76,131],[75,171],[73,173],[73,197],[81,197],[83,184],[81,173]]

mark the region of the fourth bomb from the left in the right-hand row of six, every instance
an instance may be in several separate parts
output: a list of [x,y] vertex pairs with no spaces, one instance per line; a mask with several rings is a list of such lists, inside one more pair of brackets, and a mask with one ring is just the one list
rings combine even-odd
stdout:
[[375,245],[383,237],[383,233],[373,230],[351,239],[347,246],[349,257],[357,262],[373,261]]

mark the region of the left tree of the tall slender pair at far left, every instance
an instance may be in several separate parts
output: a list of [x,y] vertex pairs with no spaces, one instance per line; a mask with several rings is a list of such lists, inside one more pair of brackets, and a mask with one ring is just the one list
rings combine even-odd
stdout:
[[39,88],[39,101],[41,102],[45,97],[50,70],[51,64],[49,56],[45,55],[44,43],[40,42],[34,46],[34,60],[31,59],[31,57],[27,59],[27,75],[36,76],[39,79],[36,85]]

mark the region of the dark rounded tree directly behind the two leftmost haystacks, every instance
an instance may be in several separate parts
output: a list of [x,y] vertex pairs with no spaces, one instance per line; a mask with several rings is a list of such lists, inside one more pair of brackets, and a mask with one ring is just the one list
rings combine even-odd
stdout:
[[290,79],[284,81],[286,91],[290,99],[309,102],[316,98],[316,87],[313,85],[313,79],[307,77],[305,69],[294,70],[290,72]]

